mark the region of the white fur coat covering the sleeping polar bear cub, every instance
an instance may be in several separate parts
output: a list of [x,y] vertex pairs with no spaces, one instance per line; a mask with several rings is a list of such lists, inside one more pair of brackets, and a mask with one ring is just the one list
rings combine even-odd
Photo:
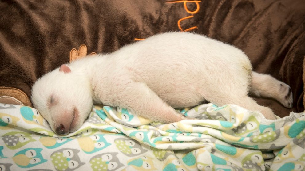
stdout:
[[[257,73],[252,81],[252,66],[244,52],[198,34],[159,34],[67,66],[71,72],[55,69],[38,79],[32,90],[34,106],[53,131],[62,122],[69,127],[66,133],[76,131],[93,103],[129,108],[164,123],[184,119],[172,107],[192,107],[205,101],[237,104],[275,119],[270,108],[248,97],[250,85],[256,95],[268,94],[268,90],[259,91]],[[274,80],[269,86],[282,83]],[[274,97],[276,93],[281,95],[277,91]],[[55,105],[49,102],[52,95]]]

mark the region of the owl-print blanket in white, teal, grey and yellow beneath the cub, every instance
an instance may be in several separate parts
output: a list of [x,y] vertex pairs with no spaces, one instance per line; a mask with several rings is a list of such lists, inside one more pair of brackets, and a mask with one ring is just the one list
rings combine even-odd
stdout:
[[34,108],[0,104],[1,170],[303,170],[305,113],[266,120],[236,105],[179,110],[196,120],[151,122],[94,106],[59,137]]

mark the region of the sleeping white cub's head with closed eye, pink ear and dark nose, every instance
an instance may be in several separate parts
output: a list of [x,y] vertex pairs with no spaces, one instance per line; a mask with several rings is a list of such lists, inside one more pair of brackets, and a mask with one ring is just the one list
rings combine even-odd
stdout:
[[92,90],[85,73],[67,65],[39,78],[32,88],[34,107],[57,134],[77,131],[92,109]]

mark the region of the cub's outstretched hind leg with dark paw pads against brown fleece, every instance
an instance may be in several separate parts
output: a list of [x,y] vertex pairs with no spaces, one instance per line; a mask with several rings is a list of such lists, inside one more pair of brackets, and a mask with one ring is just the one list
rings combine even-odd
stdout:
[[293,106],[290,86],[267,74],[252,72],[250,92],[255,96],[274,98],[286,108]]

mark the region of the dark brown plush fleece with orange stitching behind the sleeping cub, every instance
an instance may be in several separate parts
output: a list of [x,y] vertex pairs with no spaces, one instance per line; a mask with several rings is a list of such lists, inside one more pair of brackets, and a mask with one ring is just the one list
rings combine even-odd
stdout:
[[160,32],[194,31],[245,51],[259,73],[291,86],[293,109],[256,99],[283,117],[302,112],[303,0],[2,0],[0,86],[30,96],[38,77],[69,62],[69,52],[112,52]]

